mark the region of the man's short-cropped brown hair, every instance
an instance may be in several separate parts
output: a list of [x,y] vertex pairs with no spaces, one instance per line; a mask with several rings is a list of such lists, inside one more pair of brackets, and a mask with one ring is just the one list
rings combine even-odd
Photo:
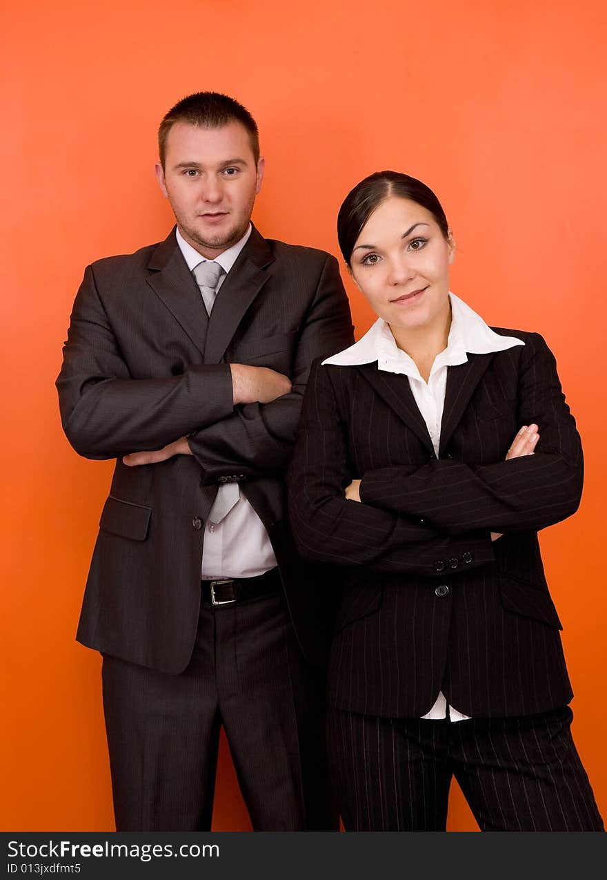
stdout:
[[196,92],[177,102],[170,108],[158,128],[158,152],[164,167],[167,136],[176,122],[187,122],[200,128],[222,128],[229,122],[240,122],[249,132],[249,139],[255,163],[259,160],[259,132],[257,122],[246,107],[234,98],[220,92]]

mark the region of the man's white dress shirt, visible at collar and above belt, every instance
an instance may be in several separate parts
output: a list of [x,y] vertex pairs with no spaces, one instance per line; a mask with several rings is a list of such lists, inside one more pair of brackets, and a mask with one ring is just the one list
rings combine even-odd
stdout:
[[[251,224],[240,241],[214,258],[213,262],[219,263],[225,272],[217,284],[218,296],[221,284],[234,266],[250,234]],[[206,262],[206,258],[185,241],[178,229],[176,236],[177,244],[184,254],[184,260],[190,271],[199,263]],[[206,523],[202,551],[203,580],[210,581],[216,577],[256,577],[275,568],[276,565],[276,556],[268,532],[265,531],[261,519],[242,493],[235,506],[220,523]]]

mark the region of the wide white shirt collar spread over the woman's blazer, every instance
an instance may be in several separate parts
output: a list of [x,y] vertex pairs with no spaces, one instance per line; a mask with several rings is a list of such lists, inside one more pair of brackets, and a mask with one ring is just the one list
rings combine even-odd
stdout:
[[[451,329],[447,347],[441,351],[432,365],[432,372],[442,366],[455,366],[458,363],[466,363],[467,352],[474,355],[487,355],[494,351],[505,351],[517,345],[524,345],[524,341],[515,336],[501,336],[496,334],[491,327],[469,305],[449,293],[452,310]],[[355,366],[363,363],[378,362],[379,370],[405,373],[408,376],[419,378],[419,370],[416,364],[406,352],[401,351],[394,341],[394,336],[386,321],[378,318],[365,335],[344,348],[338,354],[328,357],[322,363],[334,363],[339,366]]]

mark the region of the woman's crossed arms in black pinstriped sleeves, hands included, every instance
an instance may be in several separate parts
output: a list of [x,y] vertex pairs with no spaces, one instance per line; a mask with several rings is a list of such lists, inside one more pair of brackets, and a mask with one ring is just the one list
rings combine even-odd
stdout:
[[535,335],[528,346],[519,377],[526,423],[502,462],[473,467],[433,459],[421,468],[370,471],[360,480],[346,468],[329,372],[315,364],[288,480],[300,553],[432,575],[437,556],[472,554],[471,567],[483,564],[493,560],[491,540],[501,532],[538,530],[573,513],[582,489],[580,439],[546,343]]

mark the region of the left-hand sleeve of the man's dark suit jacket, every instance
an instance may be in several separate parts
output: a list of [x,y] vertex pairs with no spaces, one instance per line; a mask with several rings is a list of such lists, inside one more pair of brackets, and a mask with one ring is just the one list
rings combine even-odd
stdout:
[[56,385],[63,429],[86,458],[159,449],[233,410],[225,363],[190,366],[167,378],[130,376],[91,266],[76,296]]

